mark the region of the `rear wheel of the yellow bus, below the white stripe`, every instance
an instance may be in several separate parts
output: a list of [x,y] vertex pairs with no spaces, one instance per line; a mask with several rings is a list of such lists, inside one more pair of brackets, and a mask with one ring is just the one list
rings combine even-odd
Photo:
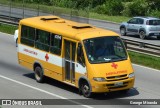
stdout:
[[37,66],[34,70],[35,79],[38,83],[44,82],[43,70],[41,67]]

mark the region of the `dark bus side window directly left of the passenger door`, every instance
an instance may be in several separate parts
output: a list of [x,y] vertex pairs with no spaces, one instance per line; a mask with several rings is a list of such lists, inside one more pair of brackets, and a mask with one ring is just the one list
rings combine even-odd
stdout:
[[50,52],[56,55],[61,55],[62,36],[57,34],[51,35]]

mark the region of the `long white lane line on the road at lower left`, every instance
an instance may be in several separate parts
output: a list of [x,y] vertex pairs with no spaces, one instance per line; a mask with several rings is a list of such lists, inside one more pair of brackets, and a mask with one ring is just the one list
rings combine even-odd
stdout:
[[[34,89],[34,90],[37,90],[37,91],[46,93],[46,94],[48,94],[48,95],[51,95],[51,96],[54,96],[54,97],[57,97],[57,98],[60,98],[60,99],[68,99],[68,98],[66,98],[66,97],[63,97],[63,96],[60,96],[60,95],[57,95],[57,94],[54,94],[54,93],[45,91],[45,90],[40,89],[40,88],[37,88],[37,87],[33,87],[33,86],[28,85],[28,84],[25,84],[25,83],[23,83],[23,82],[16,81],[16,80],[14,80],[14,79],[5,77],[5,76],[3,76],[3,75],[0,75],[0,78],[3,78],[3,79],[6,79],[6,80],[9,80],[9,81],[12,81],[12,82],[14,82],[14,83],[17,83],[17,84],[20,84],[20,85],[23,85],[23,86],[32,88],[32,89]],[[75,104],[77,104],[77,105],[80,105],[80,106],[83,106],[83,107],[86,107],[86,108],[93,108],[93,107],[88,106],[88,105],[82,105],[82,103],[79,103],[79,102],[76,102],[76,101],[73,101],[73,100],[69,100],[69,99],[68,99],[67,101],[70,101],[70,102],[72,102],[72,103],[75,103]]]

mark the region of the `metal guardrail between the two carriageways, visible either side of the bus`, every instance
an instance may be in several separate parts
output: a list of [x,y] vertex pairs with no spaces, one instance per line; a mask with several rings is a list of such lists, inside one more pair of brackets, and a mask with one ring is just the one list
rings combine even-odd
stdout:
[[[20,18],[0,15],[0,23],[18,26],[19,20]],[[127,44],[128,50],[160,57],[160,45],[124,38],[122,38],[122,40]]]

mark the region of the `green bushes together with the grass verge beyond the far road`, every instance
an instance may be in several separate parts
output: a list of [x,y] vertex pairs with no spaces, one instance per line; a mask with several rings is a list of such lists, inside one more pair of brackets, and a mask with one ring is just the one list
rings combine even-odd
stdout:
[[159,0],[0,0],[0,4],[39,9],[52,14],[78,11],[78,16],[118,23],[133,16],[160,17]]

